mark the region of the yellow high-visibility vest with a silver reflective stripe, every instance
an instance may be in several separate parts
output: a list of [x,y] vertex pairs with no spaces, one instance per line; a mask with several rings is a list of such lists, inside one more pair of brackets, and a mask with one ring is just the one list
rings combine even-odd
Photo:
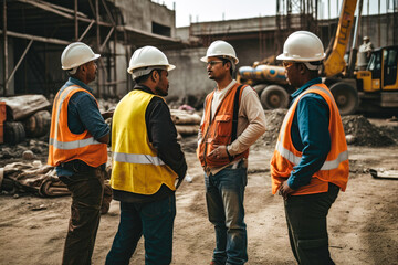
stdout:
[[112,121],[111,186],[138,194],[154,194],[161,184],[176,190],[175,173],[149,142],[145,112],[156,96],[134,89],[116,106]]

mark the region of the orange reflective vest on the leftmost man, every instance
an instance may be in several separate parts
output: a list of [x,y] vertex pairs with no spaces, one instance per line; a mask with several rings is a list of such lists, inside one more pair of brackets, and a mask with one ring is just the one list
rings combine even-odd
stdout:
[[[77,92],[84,92],[93,96],[86,89],[73,85],[60,89],[54,98],[48,163],[59,166],[61,162],[78,159],[91,167],[97,168],[107,161],[106,144],[95,140],[88,130],[76,135],[67,127],[67,104]],[[95,99],[94,96],[93,98]]]

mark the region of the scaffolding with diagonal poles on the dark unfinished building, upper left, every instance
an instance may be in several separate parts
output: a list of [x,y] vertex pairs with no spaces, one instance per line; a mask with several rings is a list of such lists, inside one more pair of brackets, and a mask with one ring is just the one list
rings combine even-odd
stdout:
[[[1,95],[55,94],[66,77],[63,71],[59,71],[61,53],[74,41],[91,45],[102,55],[97,61],[96,84],[93,85],[98,97],[116,96],[118,84],[125,85],[126,89],[133,85],[126,71],[123,78],[117,78],[117,57],[123,56],[128,62],[134,50],[143,45],[160,45],[164,49],[181,45],[174,38],[126,25],[114,2],[1,0]],[[122,45],[124,51],[121,52],[117,45]],[[56,64],[59,68],[55,70]],[[12,81],[15,86],[13,93],[10,92]]]

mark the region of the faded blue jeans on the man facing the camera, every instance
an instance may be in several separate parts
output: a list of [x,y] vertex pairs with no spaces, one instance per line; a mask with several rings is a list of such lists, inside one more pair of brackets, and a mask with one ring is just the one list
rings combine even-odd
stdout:
[[205,173],[209,221],[214,225],[217,264],[244,264],[248,261],[248,236],[243,197],[248,182],[245,168],[226,168],[216,174]]

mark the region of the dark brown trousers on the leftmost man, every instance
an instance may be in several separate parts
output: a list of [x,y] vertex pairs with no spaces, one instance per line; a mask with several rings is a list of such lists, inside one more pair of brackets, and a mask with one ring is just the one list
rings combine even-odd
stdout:
[[63,265],[91,265],[100,225],[105,172],[97,169],[60,176],[72,194],[71,219],[66,235]]

